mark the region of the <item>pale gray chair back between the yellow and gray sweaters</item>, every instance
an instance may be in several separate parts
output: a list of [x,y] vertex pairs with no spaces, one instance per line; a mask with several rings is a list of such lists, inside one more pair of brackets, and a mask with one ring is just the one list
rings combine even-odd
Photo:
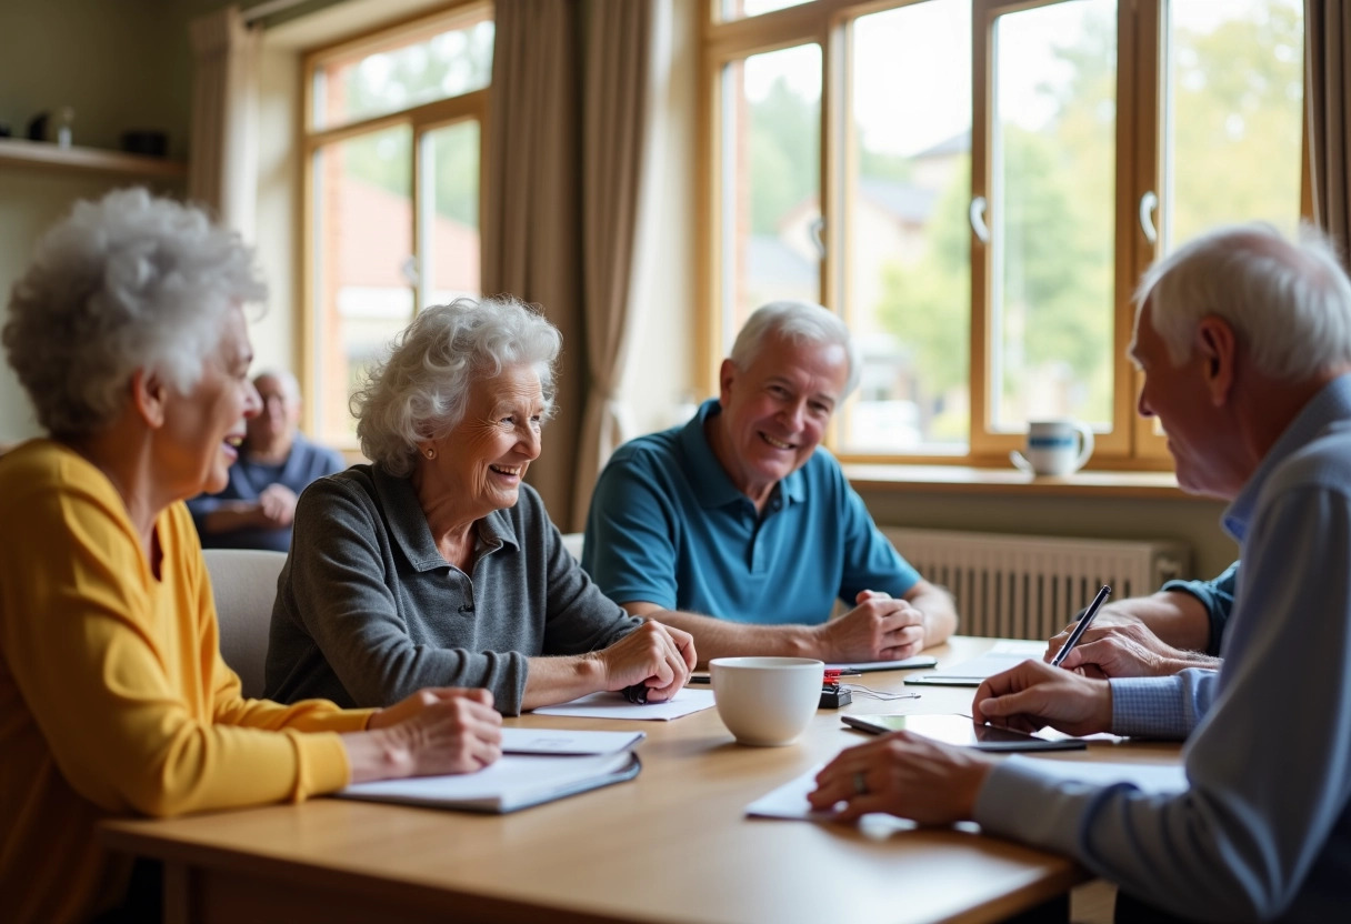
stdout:
[[245,697],[257,700],[262,697],[272,604],[286,553],[205,548],[203,557],[216,597],[220,657],[239,674]]

